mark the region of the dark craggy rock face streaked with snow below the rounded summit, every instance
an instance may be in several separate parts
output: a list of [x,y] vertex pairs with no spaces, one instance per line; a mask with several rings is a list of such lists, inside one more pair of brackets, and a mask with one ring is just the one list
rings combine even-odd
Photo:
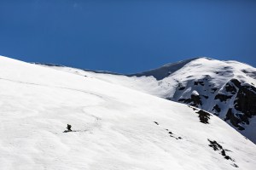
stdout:
[[[177,90],[187,88],[189,87],[179,86]],[[242,84],[234,78],[224,84],[223,88],[215,88],[205,77],[195,81],[191,91],[199,88],[204,90],[197,90],[201,93],[191,94],[189,99],[178,99],[178,102],[212,111],[217,116],[224,115],[224,121],[229,122],[239,131],[245,130],[243,125],[250,124],[250,119],[256,116],[256,88],[251,84]],[[213,94],[213,98],[205,94]],[[204,108],[207,102],[210,103],[210,109]],[[225,108],[227,106],[230,108]]]

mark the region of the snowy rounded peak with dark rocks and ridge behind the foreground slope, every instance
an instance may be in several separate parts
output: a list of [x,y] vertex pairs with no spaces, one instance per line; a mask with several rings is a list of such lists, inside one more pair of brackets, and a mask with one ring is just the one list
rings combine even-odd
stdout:
[[[55,69],[59,69],[55,67]],[[256,143],[256,69],[237,61],[188,59],[152,71],[125,76],[62,67],[161,98],[210,111]]]

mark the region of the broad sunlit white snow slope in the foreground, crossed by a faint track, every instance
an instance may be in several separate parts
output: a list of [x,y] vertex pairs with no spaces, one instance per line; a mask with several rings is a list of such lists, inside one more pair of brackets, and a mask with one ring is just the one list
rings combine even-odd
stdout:
[[255,168],[217,116],[76,73],[0,57],[0,169]]

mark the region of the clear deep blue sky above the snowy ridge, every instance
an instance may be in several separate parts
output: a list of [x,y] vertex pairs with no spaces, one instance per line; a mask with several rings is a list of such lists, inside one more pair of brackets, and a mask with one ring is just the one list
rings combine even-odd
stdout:
[[121,73],[198,56],[256,66],[256,1],[0,0],[0,55]]

